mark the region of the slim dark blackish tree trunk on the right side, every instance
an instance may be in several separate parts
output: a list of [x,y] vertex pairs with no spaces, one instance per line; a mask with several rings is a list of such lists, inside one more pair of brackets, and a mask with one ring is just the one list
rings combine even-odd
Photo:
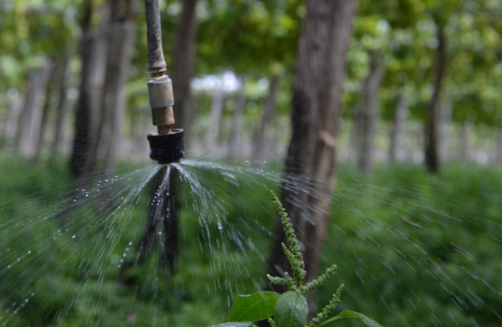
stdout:
[[437,25],[436,33],[437,48],[434,93],[432,94],[427,115],[427,122],[425,125],[425,165],[432,173],[439,172],[438,118],[446,64],[446,37],[444,35],[443,27]]

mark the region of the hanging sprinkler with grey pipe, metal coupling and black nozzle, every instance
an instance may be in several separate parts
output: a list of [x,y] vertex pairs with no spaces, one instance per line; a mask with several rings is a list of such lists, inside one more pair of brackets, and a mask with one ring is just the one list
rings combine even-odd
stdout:
[[174,124],[173,84],[165,74],[166,61],[162,50],[159,0],[145,0],[147,19],[148,97],[152,108],[152,122],[157,132],[147,135],[150,143],[150,158],[159,164],[179,161],[185,154],[183,129],[172,128]]

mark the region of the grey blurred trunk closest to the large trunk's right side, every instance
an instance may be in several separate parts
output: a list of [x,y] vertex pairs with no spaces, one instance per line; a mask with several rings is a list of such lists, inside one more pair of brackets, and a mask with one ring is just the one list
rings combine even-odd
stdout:
[[370,53],[369,75],[364,82],[363,102],[358,110],[357,133],[360,139],[358,148],[358,167],[365,174],[371,173],[373,148],[376,138],[376,124],[379,118],[380,84],[384,78],[385,62],[382,54]]

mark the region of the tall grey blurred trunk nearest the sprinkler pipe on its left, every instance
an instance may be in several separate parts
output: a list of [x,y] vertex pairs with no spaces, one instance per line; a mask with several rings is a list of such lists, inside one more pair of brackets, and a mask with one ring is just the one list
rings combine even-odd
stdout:
[[110,1],[111,23],[108,29],[106,75],[101,100],[101,124],[98,146],[105,149],[104,175],[115,171],[117,153],[122,140],[123,116],[126,110],[124,86],[131,66],[136,39],[134,0],[124,6],[119,0]]

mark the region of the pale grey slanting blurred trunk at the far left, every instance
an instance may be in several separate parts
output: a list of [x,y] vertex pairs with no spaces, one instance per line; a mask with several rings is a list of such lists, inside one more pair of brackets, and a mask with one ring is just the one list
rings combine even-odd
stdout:
[[27,157],[31,157],[35,149],[42,119],[42,94],[53,64],[52,59],[47,58],[42,69],[30,78],[25,103],[18,119],[15,145]]

